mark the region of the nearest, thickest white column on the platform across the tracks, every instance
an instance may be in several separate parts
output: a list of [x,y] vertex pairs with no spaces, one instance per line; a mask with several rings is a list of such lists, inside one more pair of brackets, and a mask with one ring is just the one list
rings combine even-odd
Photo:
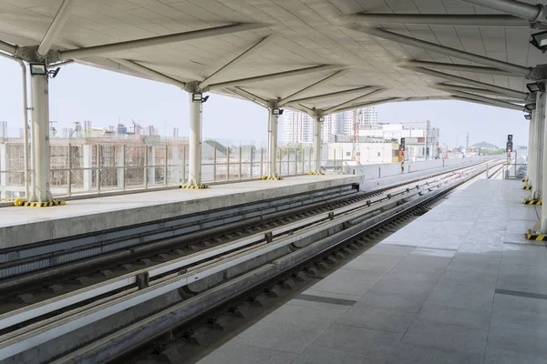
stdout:
[[30,202],[53,200],[49,189],[49,96],[47,75],[30,76],[34,178]]

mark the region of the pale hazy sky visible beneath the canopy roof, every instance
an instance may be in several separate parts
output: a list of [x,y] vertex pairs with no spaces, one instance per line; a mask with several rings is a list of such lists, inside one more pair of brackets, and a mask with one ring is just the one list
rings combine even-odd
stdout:
[[[8,122],[12,132],[22,123],[22,82],[20,66],[0,58],[0,120]],[[55,127],[73,127],[74,121],[91,120],[93,127],[115,126],[120,120],[131,126],[131,119],[141,126],[154,125],[161,136],[189,135],[189,97],[176,86],[83,66],[61,68],[49,83],[50,120]],[[440,128],[440,143],[448,147],[465,146],[481,141],[505,145],[508,134],[517,146],[528,143],[528,121],[523,114],[509,109],[482,106],[460,101],[416,101],[376,106],[378,121],[397,123],[430,120]],[[204,137],[265,141],[267,111],[250,101],[212,95],[203,104]],[[281,123],[280,123],[281,125]],[[281,136],[281,130],[280,130]]]

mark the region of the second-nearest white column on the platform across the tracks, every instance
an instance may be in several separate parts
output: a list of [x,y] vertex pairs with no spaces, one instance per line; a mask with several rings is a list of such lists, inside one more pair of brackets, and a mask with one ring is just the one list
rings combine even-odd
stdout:
[[190,145],[188,186],[201,186],[201,97],[190,94]]

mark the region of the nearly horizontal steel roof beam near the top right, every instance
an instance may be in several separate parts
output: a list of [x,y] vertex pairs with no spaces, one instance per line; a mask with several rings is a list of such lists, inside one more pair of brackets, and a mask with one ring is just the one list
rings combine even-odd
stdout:
[[458,26],[529,27],[530,23],[512,15],[378,14],[347,15],[340,20],[365,24],[412,24]]

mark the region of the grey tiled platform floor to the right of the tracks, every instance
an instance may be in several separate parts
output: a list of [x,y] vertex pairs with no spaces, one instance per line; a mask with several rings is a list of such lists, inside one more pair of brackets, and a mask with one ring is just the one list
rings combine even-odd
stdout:
[[547,246],[521,182],[480,179],[200,364],[545,363]]

